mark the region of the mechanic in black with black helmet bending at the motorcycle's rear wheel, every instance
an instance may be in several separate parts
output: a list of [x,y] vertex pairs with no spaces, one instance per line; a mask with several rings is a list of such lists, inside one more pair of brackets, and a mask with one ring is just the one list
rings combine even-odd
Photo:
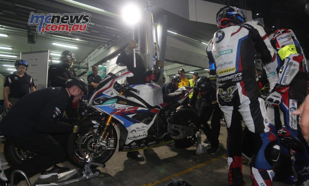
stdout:
[[[194,84],[193,95],[189,106],[195,104],[197,95],[201,96],[201,106],[198,111],[201,129],[206,135],[204,143],[209,143],[211,148],[207,150],[208,154],[216,154],[219,151],[219,133],[220,133],[220,114],[221,110],[217,103],[217,85],[209,78],[202,76]],[[211,118],[211,129],[208,120]]]

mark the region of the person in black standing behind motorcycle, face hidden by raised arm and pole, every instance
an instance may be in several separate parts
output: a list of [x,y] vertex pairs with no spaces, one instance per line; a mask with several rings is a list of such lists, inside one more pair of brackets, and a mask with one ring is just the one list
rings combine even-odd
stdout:
[[[150,81],[146,81],[147,74],[145,73],[146,69],[142,62],[142,58],[138,53],[135,53],[136,57],[136,68],[134,68],[134,59],[133,59],[133,49],[136,49],[136,41],[131,40],[129,42],[129,46],[125,48],[123,52],[120,53],[120,55],[117,58],[116,64],[119,65],[122,63],[123,65],[127,66],[128,70],[133,73],[132,77],[127,77],[127,82],[129,85],[135,85],[135,84],[144,84],[144,83],[150,83]],[[154,82],[158,82],[160,78],[160,67],[162,67],[162,62],[159,60],[155,64],[155,80],[152,80]],[[134,159],[136,161],[145,161],[145,158],[140,154],[138,151],[128,152],[127,157]]]

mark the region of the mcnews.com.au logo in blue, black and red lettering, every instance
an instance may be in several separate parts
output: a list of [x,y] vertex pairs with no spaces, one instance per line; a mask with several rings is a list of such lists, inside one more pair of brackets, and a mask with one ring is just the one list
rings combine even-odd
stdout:
[[46,33],[84,33],[88,29],[91,15],[81,14],[35,14],[30,13],[28,25],[36,25],[36,32],[40,35]]

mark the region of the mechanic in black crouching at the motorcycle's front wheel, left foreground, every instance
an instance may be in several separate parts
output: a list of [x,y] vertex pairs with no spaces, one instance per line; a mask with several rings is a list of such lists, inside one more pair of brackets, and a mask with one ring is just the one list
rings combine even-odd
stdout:
[[[61,162],[65,157],[65,151],[49,133],[88,133],[86,125],[69,125],[58,121],[69,102],[77,102],[87,93],[87,84],[82,79],[74,77],[66,82],[66,87],[49,87],[34,91],[15,104],[2,120],[0,131],[7,140],[37,156],[2,170],[1,186],[8,184],[7,178],[10,178],[14,170],[24,171],[28,177],[41,172],[45,178],[57,175],[63,169],[68,170],[52,167]],[[22,179],[17,175],[15,178],[15,184]]]

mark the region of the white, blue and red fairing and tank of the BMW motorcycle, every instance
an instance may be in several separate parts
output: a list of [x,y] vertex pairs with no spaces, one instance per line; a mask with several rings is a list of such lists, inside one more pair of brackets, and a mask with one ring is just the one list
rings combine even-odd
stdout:
[[132,85],[131,87],[140,92],[130,91],[129,95],[120,95],[114,88],[116,81],[132,75],[126,67],[116,66],[101,80],[88,100],[89,105],[107,113],[123,125],[118,125],[119,151],[131,151],[158,144],[158,136],[150,135],[148,131],[163,107],[161,87],[154,83]]

